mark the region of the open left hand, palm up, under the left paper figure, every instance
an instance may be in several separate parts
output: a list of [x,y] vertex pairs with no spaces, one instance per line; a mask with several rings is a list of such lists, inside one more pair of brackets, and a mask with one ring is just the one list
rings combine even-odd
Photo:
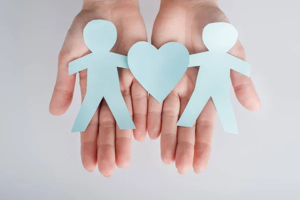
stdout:
[[[68,62],[90,53],[84,44],[82,31],[93,19],[109,20],[116,26],[117,41],[112,52],[126,55],[135,42],[147,39],[138,0],[85,0],[59,53],[56,84],[49,106],[53,115],[64,113],[71,103],[75,74],[68,75]],[[133,135],[136,140],[142,141],[146,135],[147,92],[129,69],[118,70],[121,93],[136,126]],[[79,72],[81,100],[86,92],[86,74],[86,69]],[[102,100],[85,132],[80,133],[80,139],[81,160],[86,170],[93,171],[98,164],[99,171],[110,176],[115,164],[121,168],[129,164],[132,130],[120,130],[116,126],[105,100]]]

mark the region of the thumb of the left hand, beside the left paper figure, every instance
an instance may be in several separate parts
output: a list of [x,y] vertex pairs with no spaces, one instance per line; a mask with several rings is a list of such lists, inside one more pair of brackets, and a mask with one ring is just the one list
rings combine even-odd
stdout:
[[66,34],[58,56],[56,83],[49,105],[49,111],[53,115],[63,114],[72,101],[76,75],[68,75],[68,63],[90,53],[82,37],[82,30],[90,17],[92,16],[87,12],[81,11]]

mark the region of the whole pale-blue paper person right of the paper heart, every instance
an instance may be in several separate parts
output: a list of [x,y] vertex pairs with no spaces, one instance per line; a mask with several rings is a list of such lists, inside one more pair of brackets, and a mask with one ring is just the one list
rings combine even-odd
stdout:
[[200,66],[194,91],[177,125],[191,127],[211,96],[225,132],[238,133],[229,97],[230,69],[246,76],[251,65],[227,53],[237,40],[229,23],[210,23],[203,29],[208,51],[190,55],[188,66]]

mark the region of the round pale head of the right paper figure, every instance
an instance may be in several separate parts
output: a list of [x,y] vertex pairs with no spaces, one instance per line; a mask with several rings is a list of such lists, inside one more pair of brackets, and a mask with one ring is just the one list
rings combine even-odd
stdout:
[[203,42],[209,51],[227,52],[237,40],[237,30],[230,23],[209,23],[203,29]]

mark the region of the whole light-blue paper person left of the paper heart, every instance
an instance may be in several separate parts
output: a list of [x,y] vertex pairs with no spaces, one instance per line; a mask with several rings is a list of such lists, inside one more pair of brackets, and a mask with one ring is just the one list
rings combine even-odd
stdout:
[[72,132],[84,131],[104,97],[120,129],[134,129],[117,73],[128,68],[127,57],[109,52],[116,41],[116,28],[110,21],[92,20],[83,29],[83,39],[92,53],[69,63],[69,74],[87,68],[87,88]]

